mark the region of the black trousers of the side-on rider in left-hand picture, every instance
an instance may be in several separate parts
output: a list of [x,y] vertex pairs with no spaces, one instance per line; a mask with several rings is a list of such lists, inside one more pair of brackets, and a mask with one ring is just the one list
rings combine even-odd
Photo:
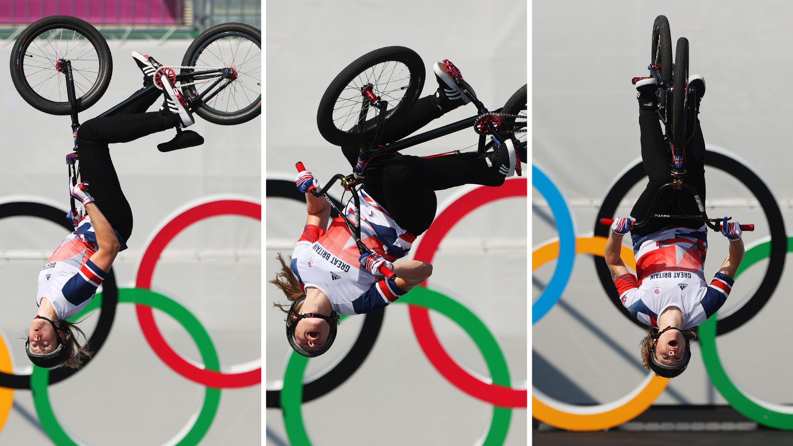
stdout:
[[94,203],[125,241],[132,235],[132,209],[121,190],[108,144],[126,143],[177,125],[178,117],[170,116],[173,113],[144,113],[162,94],[155,89],[115,116],[84,122],[77,132],[80,178],[89,183]]

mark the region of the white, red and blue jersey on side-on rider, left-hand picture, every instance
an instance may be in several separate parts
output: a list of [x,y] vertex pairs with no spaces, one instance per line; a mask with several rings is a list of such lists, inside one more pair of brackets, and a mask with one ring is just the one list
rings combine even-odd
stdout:
[[[113,229],[115,231],[115,229]],[[127,248],[116,233],[121,251]],[[107,273],[90,261],[98,244],[90,217],[79,221],[75,232],[69,234],[52,252],[47,264],[39,273],[39,290],[36,305],[47,298],[55,308],[59,320],[79,313],[94,298],[96,290]]]

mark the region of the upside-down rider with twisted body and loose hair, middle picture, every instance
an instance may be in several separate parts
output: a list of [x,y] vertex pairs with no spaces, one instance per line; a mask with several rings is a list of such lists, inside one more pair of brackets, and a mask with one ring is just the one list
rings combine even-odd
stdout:
[[[436,63],[434,71],[439,83],[437,93],[416,101],[397,128],[385,129],[382,144],[400,140],[471,102],[463,88],[476,97],[453,63]],[[462,81],[462,88],[455,78]],[[359,147],[343,146],[342,152],[355,167]],[[282,269],[270,282],[289,300],[289,304],[275,306],[287,313],[287,339],[302,356],[320,356],[328,351],[339,314],[381,310],[432,274],[432,265],[426,262],[393,262],[407,256],[416,236],[431,225],[438,204],[435,190],[464,184],[500,186],[514,175],[516,163],[511,141],[484,155],[419,158],[393,153],[388,158],[380,167],[367,169],[360,192],[361,239],[376,255],[361,255],[343,217],[331,221],[330,204],[308,193],[312,185],[321,187],[311,172],[297,175],[297,188],[306,193],[308,218],[291,263],[279,254]],[[526,160],[525,148],[519,158]],[[344,212],[350,221],[354,219],[352,199]],[[397,275],[395,281],[385,279],[378,271],[382,265]]]

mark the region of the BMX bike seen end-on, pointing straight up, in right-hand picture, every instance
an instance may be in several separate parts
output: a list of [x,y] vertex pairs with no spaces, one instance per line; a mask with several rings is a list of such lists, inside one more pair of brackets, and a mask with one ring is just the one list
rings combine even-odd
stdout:
[[[672,167],[670,175],[672,182],[661,186],[653,197],[653,202],[642,220],[634,223],[634,228],[646,225],[650,218],[689,218],[703,221],[714,231],[720,232],[722,224],[732,217],[709,218],[705,211],[705,203],[699,198],[699,193],[691,184],[685,183],[686,155],[685,146],[694,139],[696,131],[699,106],[695,94],[695,87],[688,86],[688,39],[680,37],[676,43],[675,60],[672,63],[672,37],[669,32],[669,22],[665,16],[658,16],[653,23],[653,44],[651,49],[650,72],[646,77],[632,79],[634,85],[641,79],[654,78],[657,81],[657,110],[655,113],[661,120],[664,142],[669,152],[669,164]],[[661,194],[667,189],[672,190],[672,210],[676,213],[653,213]],[[689,215],[680,208],[680,198],[683,190],[691,191],[697,204],[699,214]],[[611,225],[614,220],[602,218],[601,225]],[[753,231],[754,225],[741,225],[742,231]]]

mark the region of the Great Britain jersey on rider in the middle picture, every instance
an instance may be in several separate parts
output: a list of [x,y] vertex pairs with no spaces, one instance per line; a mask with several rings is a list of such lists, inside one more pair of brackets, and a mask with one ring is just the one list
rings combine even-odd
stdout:
[[[354,218],[354,206],[347,205],[347,218]],[[322,291],[339,314],[362,314],[380,310],[405,292],[381,275],[371,275],[361,267],[358,246],[336,217],[328,231],[306,225],[292,253],[292,271],[301,286]],[[361,239],[385,260],[393,261],[410,251],[415,236],[401,229],[373,198],[361,191]]]

